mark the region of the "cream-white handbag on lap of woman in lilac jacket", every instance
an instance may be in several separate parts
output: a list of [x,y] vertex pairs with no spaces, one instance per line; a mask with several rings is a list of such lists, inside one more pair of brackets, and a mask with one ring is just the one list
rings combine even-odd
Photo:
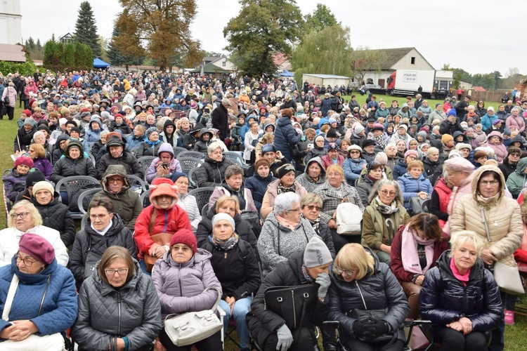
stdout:
[[174,314],[169,314],[164,319],[164,331],[174,345],[193,345],[221,330],[223,322],[215,313],[221,300],[221,293],[215,286],[209,286],[203,292],[208,290],[215,290],[218,293],[218,299],[211,310],[187,312],[171,319],[169,317]]

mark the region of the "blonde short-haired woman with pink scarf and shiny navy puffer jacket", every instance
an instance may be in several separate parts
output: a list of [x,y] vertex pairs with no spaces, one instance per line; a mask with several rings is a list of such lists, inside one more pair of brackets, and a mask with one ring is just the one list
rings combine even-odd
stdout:
[[450,244],[424,277],[419,313],[432,322],[429,333],[441,350],[488,350],[488,331],[503,312],[500,290],[480,259],[486,244],[469,230],[455,232]]

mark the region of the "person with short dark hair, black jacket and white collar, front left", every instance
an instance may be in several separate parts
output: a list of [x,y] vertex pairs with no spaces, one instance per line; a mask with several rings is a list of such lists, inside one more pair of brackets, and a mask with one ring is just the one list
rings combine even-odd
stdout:
[[119,215],[114,213],[113,202],[109,197],[91,199],[88,214],[86,226],[75,235],[70,263],[67,265],[73,272],[77,288],[97,270],[97,263],[108,247],[122,246],[132,256],[136,256],[134,235],[124,226]]

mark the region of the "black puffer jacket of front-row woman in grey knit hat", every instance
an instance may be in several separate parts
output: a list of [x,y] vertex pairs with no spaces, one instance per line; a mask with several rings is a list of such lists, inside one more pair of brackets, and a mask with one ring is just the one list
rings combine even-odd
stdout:
[[[278,263],[273,272],[269,273],[258,289],[251,303],[252,312],[247,314],[247,326],[251,335],[259,345],[263,345],[265,340],[276,333],[280,326],[285,325],[285,320],[275,312],[266,308],[265,292],[273,286],[297,286],[314,284],[304,277],[302,263],[304,261],[304,251],[292,253],[287,260]],[[303,326],[314,329],[313,326],[322,326],[327,320],[328,296],[324,300],[316,299],[313,310],[306,311]]]

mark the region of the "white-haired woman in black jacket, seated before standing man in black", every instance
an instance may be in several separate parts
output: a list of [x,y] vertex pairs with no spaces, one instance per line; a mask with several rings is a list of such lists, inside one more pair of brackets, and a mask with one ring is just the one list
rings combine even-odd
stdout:
[[225,178],[227,167],[231,164],[233,161],[223,156],[223,145],[219,142],[210,143],[204,163],[197,168],[197,186],[216,187],[220,185]]

